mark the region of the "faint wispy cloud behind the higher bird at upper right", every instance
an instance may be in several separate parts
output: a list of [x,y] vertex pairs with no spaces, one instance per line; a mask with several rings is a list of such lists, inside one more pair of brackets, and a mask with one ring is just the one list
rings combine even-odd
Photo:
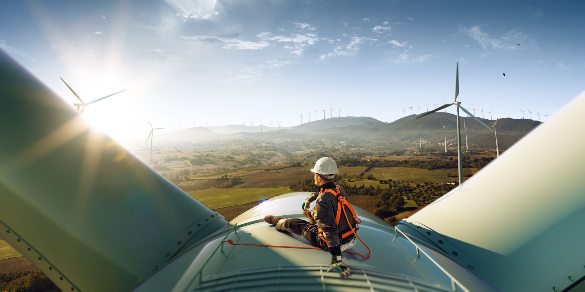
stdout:
[[[481,27],[459,27],[459,33],[471,37],[486,50],[525,50],[538,48],[535,40],[518,29],[510,30],[502,37],[491,37],[487,32],[482,32]],[[456,35],[456,34],[455,34]],[[522,44],[522,46],[518,46]]]

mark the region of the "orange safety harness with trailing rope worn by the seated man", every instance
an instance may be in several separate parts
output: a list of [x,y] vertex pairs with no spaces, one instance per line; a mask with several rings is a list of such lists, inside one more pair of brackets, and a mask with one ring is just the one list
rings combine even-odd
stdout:
[[[350,252],[347,251],[347,249],[345,250],[345,252],[347,253],[351,253],[352,255],[359,255],[362,258],[370,258],[371,255],[371,251],[370,248],[363,242],[362,238],[360,238],[359,236],[357,236],[356,230],[352,227],[352,224],[349,223],[349,218],[347,218],[347,214],[345,212],[345,206],[347,206],[349,208],[350,211],[352,211],[352,215],[353,215],[353,219],[356,222],[356,225],[359,225],[362,221],[359,220],[359,218],[357,218],[356,212],[353,210],[352,206],[345,200],[345,197],[343,197],[340,192],[339,192],[339,187],[337,188],[337,192],[335,192],[332,189],[326,189],[324,192],[329,192],[334,194],[337,197],[337,214],[335,215],[335,223],[339,226],[339,219],[341,218],[341,212],[343,210],[343,215],[345,215],[345,220],[347,220],[347,225],[349,225],[349,228],[351,228],[350,231],[345,232],[344,234],[341,235],[341,239],[349,237],[349,235],[356,235],[357,239],[359,239],[362,244],[364,246],[366,246],[368,254],[367,256],[362,255],[361,253],[358,252]],[[316,208],[316,206],[315,206]],[[314,208],[314,210],[315,210]],[[327,244],[327,241],[325,240],[325,232],[323,230],[321,230],[321,227],[319,227],[319,238],[321,238],[322,241],[325,242],[325,244]],[[231,245],[255,245],[255,246],[268,246],[271,248],[301,248],[301,249],[321,249],[321,248],[317,248],[317,247],[313,247],[313,246],[290,246],[290,245],[269,245],[269,244],[235,244],[233,243],[232,239],[228,239],[228,244]],[[329,244],[327,244],[327,246],[329,247]]]

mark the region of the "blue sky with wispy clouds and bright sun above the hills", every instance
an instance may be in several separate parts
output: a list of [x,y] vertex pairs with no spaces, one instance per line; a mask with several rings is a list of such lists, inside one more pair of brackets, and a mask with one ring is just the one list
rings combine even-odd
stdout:
[[550,118],[585,89],[584,8],[580,1],[4,1],[0,47],[69,103],[75,98],[59,77],[86,101],[128,89],[85,110],[115,138],[146,137],[146,117],[168,128],[292,126],[301,113],[314,120],[315,110],[331,116],[331,107],[342,107],[342,116],[390,121],[411,105],[418,113],[417,105],[452,101],[456,62],[462,106],[493,110],[494,119],[531,110],[538,120],[536,112]]

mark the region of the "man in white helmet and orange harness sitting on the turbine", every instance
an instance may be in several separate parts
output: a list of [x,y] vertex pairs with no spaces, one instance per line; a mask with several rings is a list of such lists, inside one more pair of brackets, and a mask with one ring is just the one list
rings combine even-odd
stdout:
[[[276,230],[301,235],[311,244],[329,251],[331,267],[327,272],[335,269],[339,276],[348,277],[351,271],[342,262],[341,253],[356,244],[355,211],[347,201],[345,190],[333,183],[335,173],[339,172],[333,159],[329,157],[319,159],[311,172],[315,173],[315,185],[318,190],[302,203],[303,213],[311,223],[299,218],[278,218],[274,215],[267,215],[264,221],[276,225]],[[309,210],[312,201],[316,201],[315,207]],[[343,201],[347,201],[347,204]]]

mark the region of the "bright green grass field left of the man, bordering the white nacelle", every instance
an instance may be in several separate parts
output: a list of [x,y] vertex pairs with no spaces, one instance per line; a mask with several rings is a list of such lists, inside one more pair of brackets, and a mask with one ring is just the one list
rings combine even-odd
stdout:
[[205,189],[187,193],[205,206],[216,209],[270,199],[290,192],[288,187],[267,187],[264,189]]

